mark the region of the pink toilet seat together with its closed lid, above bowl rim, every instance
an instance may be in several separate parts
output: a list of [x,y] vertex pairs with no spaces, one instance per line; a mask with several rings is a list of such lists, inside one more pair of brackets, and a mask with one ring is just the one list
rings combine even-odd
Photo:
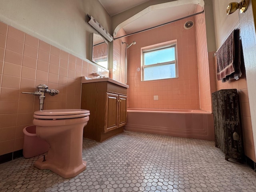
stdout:
[[71,119],[88,115],[90,115],[90,111],[85,109],[54,109],[34,112],[36,119]]

